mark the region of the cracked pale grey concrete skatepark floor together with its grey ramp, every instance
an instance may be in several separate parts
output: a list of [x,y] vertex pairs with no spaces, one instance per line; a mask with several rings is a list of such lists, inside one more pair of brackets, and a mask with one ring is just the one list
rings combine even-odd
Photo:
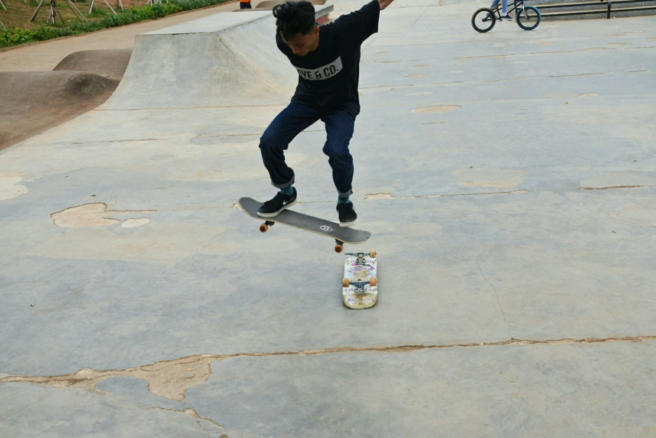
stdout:
[[[270,18],[139,37],[106,104],[1,151],[0,435],[656,435],[656,22],[480,34],[436,4],[363,46],[374,308],[329,239],[234,206],[274,193]],[[287,157],[334,219],[324,137]]]

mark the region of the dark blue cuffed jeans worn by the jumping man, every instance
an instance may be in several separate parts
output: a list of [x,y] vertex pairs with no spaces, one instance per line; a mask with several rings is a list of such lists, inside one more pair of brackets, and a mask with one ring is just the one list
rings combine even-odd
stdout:
[[356,122],[356,116],[346,111],[321,112],[311,106],[291,102],[260,138],[264,167],[269,171],[271,184],[275,187],[284,189],[294,184],[294,170],[285,163],[285,150],[299,132],[319,119],[326,125],[327,140],[323,153],[328,155],[328,163],[333,169],[333,182],[339,195],[346,197],[353,193],[353,157],[348,151],[348,144]]

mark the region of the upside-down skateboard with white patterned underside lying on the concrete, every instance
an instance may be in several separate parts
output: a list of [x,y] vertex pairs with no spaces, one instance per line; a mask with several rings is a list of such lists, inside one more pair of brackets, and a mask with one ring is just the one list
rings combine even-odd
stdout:
[[368,309],[378,300],[376,251],[348,253],[344,262],[342,300],[351,309]]

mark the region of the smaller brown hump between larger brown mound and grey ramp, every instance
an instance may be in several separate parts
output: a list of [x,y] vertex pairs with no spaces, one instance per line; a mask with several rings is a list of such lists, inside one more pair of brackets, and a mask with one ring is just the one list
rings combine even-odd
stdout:
[[132,49],[82,50],[66,56],[52,70],[86,71],[120,81],[131,54]]

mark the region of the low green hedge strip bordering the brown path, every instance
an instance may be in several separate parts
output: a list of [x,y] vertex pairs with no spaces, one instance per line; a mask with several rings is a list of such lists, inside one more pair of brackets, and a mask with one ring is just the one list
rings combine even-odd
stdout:
[[79,35],[101,29],[115,28],[144,20],[156,20],[167,15],[176,14],[184,10],[199,9],[225,3],[228,0],[171,0],[171,3],[162,5],[145,5],[118,12],[118,15],[106,14],[100,20],[89,23],[73,22],[68,26],[41,25],[35,30],[6,29],[0,31],[0,47],[15,46],[32,41],[45,41],[47,39]]

